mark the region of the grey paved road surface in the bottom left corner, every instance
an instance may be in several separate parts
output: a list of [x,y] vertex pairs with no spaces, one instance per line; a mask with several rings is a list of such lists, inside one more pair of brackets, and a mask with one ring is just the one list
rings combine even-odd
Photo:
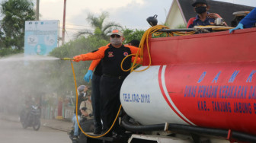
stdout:
[[32,127],[23,129],[20,122],[11,122],[0,119],[1,143],[69,143],[69,135],[66,132],[41,126],[39,131]]

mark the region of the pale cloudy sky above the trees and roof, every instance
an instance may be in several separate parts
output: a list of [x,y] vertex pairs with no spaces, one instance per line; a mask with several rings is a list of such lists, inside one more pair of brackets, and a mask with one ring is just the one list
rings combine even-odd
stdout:
[[[2,2],[4,0],[0,0]],[[37,0],[32,0],[37,2]],[[256,0],[218,0],[256,7]],[[130,29],[147,30],[146,18],[158,15],[158,24],[164,24],[172,0],[66,0],[66,40],[82,29],[91,29],[88,14],[100,15],[107,11],[114,21]],[[63,22],[64,0],[40,0],[40,21],[59,20],[60,35]]]

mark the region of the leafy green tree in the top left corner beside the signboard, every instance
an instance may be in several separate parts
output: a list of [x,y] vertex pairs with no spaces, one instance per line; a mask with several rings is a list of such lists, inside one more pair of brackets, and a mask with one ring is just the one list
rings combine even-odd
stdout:
[[36,18],[34,3],[31,0],[5,0],[0,5],[3,15],[0,21],[0,45],[8,51],[18,49],[23,52],[25,21],[34,21]]

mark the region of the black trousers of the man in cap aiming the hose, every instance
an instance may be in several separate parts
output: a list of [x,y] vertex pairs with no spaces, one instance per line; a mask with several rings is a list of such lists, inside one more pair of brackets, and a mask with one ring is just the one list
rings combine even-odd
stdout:
[[[110,129],[120,107],[120,88],[124,78],[101,76],[101,119],[103,130]],[[118,130],[118,122],[114,130]]]

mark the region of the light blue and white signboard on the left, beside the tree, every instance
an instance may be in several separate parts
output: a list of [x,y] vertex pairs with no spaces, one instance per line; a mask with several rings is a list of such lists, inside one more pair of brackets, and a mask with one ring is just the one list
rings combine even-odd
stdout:
[[47,56],[58,46],[59,21],[26,21],[24,54]]

